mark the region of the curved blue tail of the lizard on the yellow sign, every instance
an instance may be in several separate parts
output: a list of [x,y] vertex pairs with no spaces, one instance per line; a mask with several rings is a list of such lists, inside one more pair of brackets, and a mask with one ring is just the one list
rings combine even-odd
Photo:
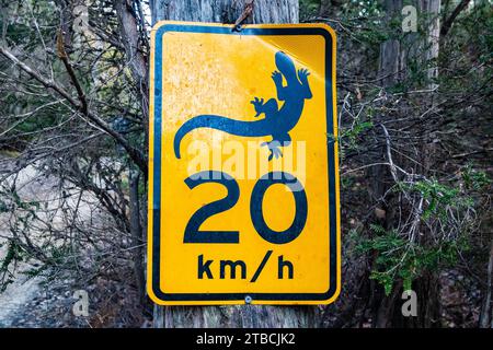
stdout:
[[262,137],[271,135],[267,125],[265,124],[265,119],[244,121],[215,115],[199,115],[186,120],[176,131],[176,135],[174,136],[174,154],[177,159],[181,158],[180,144],[182,139],[185,135],[198,128],[216,129],[243,137]]

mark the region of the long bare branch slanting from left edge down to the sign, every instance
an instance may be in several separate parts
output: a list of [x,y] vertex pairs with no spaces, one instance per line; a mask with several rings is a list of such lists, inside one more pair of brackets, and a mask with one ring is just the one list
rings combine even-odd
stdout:
[[53,80],[48,80],[44,78],[42,74],[36,72],[34,69],[32,69],[26,63],[19,60],[11,51],[5,49],[3,46],[0,46],[0,54],[2,54],[7,59],[12,61],[14,65],[19,66],[24,72],[30,74],[32,78],[37,80],[39,83],[42,83],[45,88],[51,89],[55,92],[57,92],[59,95],[61,95],[65,100],[67,100],[74,109],[82,113],[84,116],[87,116],[92,122],[94,122],[98,127],[100,127],[104,132],[110,135],[115,139],[116,142],[118,142],[128,153],[130,159],[137,164],[137,166],[142,171],[144,174],[147,174],[147,162],[144,156],[144,154],[131,147],[128,141],[118,132],[113,130],[106,121],[104,121],[100,116],[94,114],[93,112],[89,110],[87,107],[83,106],[83,103],[77,101],[73,98],[67,91],[65,91],[60,85],[58,85]]

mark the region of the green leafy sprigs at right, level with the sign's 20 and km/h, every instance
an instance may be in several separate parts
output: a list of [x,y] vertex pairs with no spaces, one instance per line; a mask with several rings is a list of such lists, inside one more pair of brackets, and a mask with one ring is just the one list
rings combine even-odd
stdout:
[[[484,173],[469,167],[462,176],[468,188],[482,188],[490,184]],[[394,190],[422,196],[424,203],[427,205],[424,205],[419,220],[439,219],[444,230],[457,225],[455,219],[448,214],[449,209],[463,212],[467,208],[473,207],[472,199],[467,192],[458,187],[440,184],[436,179],[412,184],[399,183]],[[465,229],[466,226],[461,228],[456,234],[437,235],[434,240],[421,242],[415,235],[400,234],[395,230],[385,230],[380,225],[371,224],[370,237],[362,237],[355,233],[351,237],[356,242],[356,254],[375,254],[370,278],[383,287],[386,294],[390,294],[398,280],[402,281],[404,290],[408,290],[424,271],[437,271],[455,265],[459,252],[471,248],[471,237],[467,235]]]

